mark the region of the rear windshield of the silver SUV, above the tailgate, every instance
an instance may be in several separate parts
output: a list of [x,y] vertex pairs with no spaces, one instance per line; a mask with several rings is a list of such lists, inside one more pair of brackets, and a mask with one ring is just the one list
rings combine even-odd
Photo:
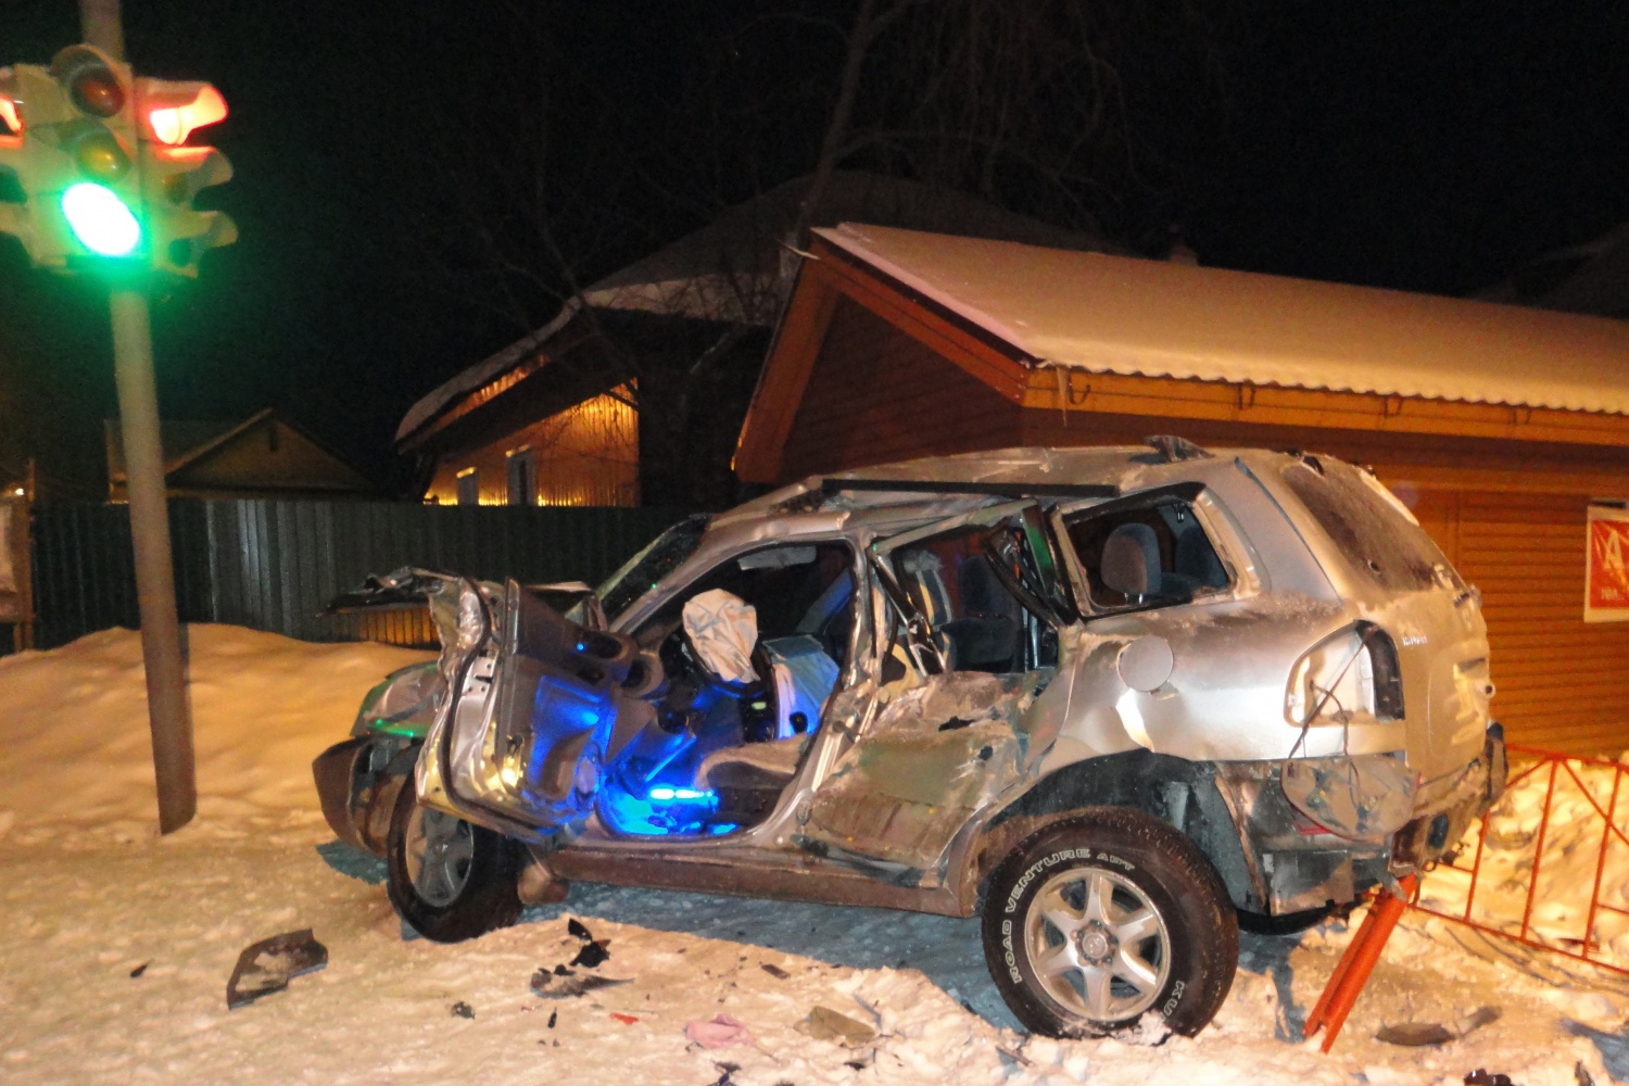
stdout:
[[1284,469],[1284,482],[1346,552],[1352,568],[1381,588],[1430,588],[1437,583],[1435,568],[1447,567],[1430,536],[1360,469],[1306,456]]

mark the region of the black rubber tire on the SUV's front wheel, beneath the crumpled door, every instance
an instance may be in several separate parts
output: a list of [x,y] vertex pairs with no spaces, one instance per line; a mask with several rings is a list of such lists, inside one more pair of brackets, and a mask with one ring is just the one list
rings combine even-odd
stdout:
[[[469,861],[450,899],[432,902],[420,894],[409,874],[407,847],[409,827],[425,814],[427,811],[419,806],[419,790],[409,775],[391,811],[391,830],[384,850],[384,887],[396,915],[435,943],[461,943],[515,923],[523,909],[516,892],[518,848],[507,837],[479,825],[458,822],[459,834],[469,830]],[[448,816],[440,817],[448,819]]]

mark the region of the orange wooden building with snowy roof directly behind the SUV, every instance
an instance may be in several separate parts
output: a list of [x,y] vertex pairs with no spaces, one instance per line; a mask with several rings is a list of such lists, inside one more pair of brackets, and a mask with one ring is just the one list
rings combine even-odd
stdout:
[[1513,742],[1629,747],[1629,622],[1593,620],[1629,607],[1585,620],[1593,523],[1629,500],[1629,324],[878,226],[811,247],[741,479],[1157,433],[1333,453],[1481,588]]

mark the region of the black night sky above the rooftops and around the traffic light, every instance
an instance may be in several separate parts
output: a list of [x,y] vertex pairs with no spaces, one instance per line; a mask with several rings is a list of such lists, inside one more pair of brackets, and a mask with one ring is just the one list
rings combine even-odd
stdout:
[[[1212,265],[1464,293],[1629,220],[1629,5],[1192,7],[1210,15],[1202,109],[1181,63],[1127,57],[1158,169],[1101,217],[1124,241],[1175,225]],[[801,28],[740,34],[771,8],[854,5],[125,0],[137,70],[207,78],[231,106],[207,142],[236,177],[200,204],[243,238],[155,301],[163,414],[272,405],[401,492],[388,444],[402,412],[565,288],[508,301],[450,230],[456,208],[495,205],[512,145],[547,140],[585,282],[700,225],[709,200],[811,168],[841,50]],[[549,28],[546,49],[515,33],[515,10]],[[0,28],[0,63],[46,63],[78,39],[77,7],[11,0]],[[710,173],[665,173],[686,142]],[[489,225],[510,230],[497,212]],[[57,497],[98,497],[104,306],[3,243],[0,475],[34,451]]]

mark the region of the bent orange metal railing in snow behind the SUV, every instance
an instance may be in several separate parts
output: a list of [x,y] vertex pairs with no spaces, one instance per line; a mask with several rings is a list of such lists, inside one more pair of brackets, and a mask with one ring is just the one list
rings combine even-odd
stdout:
[[1411,905],[1629,975],[1629,765],[1518,746],[1510,755],[1520,769],[1482,819],[1469,865],[1438,865]]

